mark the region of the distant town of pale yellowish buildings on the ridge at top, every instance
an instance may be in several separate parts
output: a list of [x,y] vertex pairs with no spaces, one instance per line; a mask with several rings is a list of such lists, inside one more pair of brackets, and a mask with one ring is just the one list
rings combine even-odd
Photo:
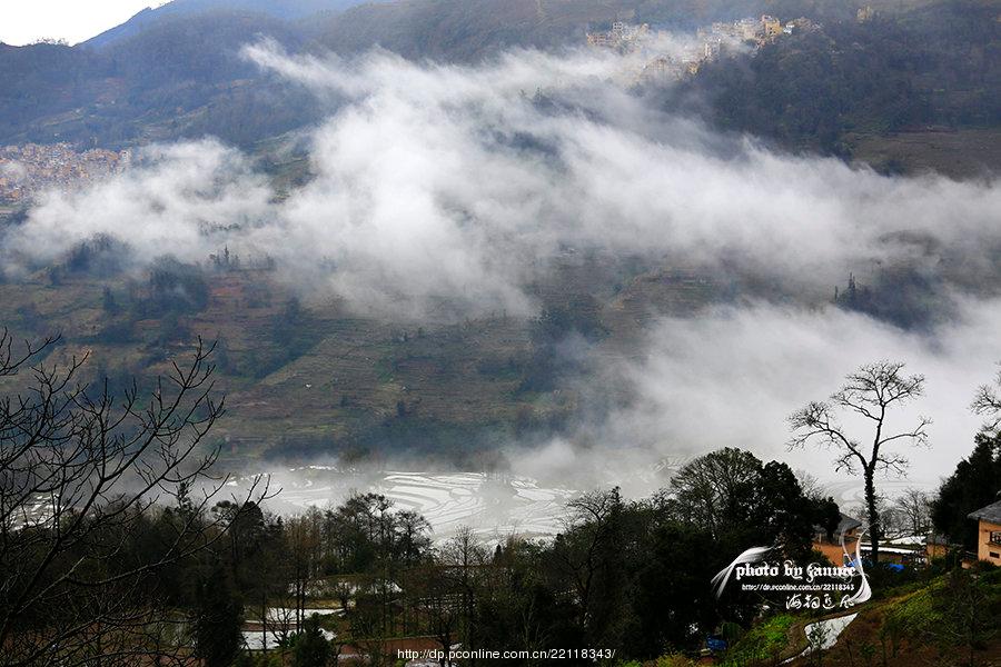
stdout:
[[727,52],[736,53],[737,49],[745,47],[759,49],[783,34],[816,28],[817,26],[810,19],[800,18],[783,24],[769,14],[763,14],[760,19],[749,17],[736,21],[716,22],[708,28],[701,28],[691,46],[680,56],[672,56],[663,52],[663,44],[670,38],[666,31],[652,30],[648,23],[636,26],[615,21],[611,30],[588,32],[587,46],[647,57],[642,69],[632,72],[628,81],[632,84],[643,84],[681,80],[694,76],[703,63],[718,59]]

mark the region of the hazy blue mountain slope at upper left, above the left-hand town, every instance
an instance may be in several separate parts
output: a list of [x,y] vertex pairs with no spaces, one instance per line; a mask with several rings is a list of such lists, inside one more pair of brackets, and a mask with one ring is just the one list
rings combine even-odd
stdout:
[[101,50],[0,48],[0,143],[117,147],[215,135],[249,145],[309,120],[313,100],[239,57],[268,36],[305,47],[293,24],[217,10],[159,19]]

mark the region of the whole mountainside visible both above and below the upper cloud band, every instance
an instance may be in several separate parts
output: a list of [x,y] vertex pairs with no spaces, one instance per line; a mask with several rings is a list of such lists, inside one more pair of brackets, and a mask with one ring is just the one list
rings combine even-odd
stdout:
[[[293,52],[353,53],[378,43],[412,58],[475,61],[504,46],[581,43],[588,26],[614,18],[692,27],[757,11],[815,11],[826,23],[756,54],[712,62],[680,96],[633,92],[724,132],[883,171],[980,176],[1001,168],[1001,23],[990,7],[969,2],[905,6],[900,13],[888,7],[861,22],[849,4],[750,0],[400,0],[295,21],[245,10],[157,14],[100,50],[0,47],[9,64],[0,68],[0,142],[133,146],[216,135],[250,147],[280,198],[310,179],[308,158],[285,153],[283,133],[329,109],[237,57],[260,34]],[[7,219],[16,223],[18,213],[11,209]],[[149,378],[190,350],[197,334],[218,339],[220,387],[230,398],[216,435],[236,457],[378,457],[406,442],[413,452],[473,460],[492,444],[546,437],[621,398],[614,386],[593,392],[597,398],[582,396],[579,379],[594,369],[582,366],[567,338],[585,339],[594,348],[588,362],[601,364],[628,359],[662,315],[740,299],[830,299],[829,286],[801,295],[790,281],[755,283],[721,267],[611,262],[567,250],[556,270],[529,286],[536,317],[494,312],[456,321],[436,312],[420,326],[390,326],[283,282],[266,265],[240,267],[217,255],[131,271],[113,253],[83,246],[54,265],[33,266],[23,283],[0,285],[8,305],[0,323],[19,338],[59,329],[59,354],[91,350],[96,378]],[[953,315],[943,306],[951,285],[993,293],[989,280],[971,286],[983,275],[964,279],[970,268],[948,252],[919,259],[933,268],[882,267],[872,298],[839,305],[921,328]]]

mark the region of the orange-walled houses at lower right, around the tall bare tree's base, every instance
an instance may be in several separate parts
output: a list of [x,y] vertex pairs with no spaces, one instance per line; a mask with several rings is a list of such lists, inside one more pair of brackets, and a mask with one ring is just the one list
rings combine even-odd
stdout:
[[[977,552],[965,554],[963,566],[968,567],[975,560],[1001,566],[1001,500],[971,512],[969,518],[978,524]],[[862,522],[842,514],[841,522],[830,535],[822,527],[814,527],[813,548],[831,563],[841,565],[844,563],[844,551],[853,555],[862,537]],[[958,545],[935,534],[891,538],[880,544],[880,560],[905,567],[921,566],[957,548]],[[859,550],[864,555],[871,550],[871,545],[862,541]]]

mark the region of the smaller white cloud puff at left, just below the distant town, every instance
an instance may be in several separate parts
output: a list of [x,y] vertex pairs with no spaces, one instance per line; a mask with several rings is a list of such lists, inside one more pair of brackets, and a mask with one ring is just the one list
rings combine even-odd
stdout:
[[202,261],[235,229],[261,225],[270,197],[247,158],[218,141],[151,146],[121,175],[46,192],[3,239],[3,266],[16,272],[50,262],[96,236],[127,242],[140,265],[161,255]]

